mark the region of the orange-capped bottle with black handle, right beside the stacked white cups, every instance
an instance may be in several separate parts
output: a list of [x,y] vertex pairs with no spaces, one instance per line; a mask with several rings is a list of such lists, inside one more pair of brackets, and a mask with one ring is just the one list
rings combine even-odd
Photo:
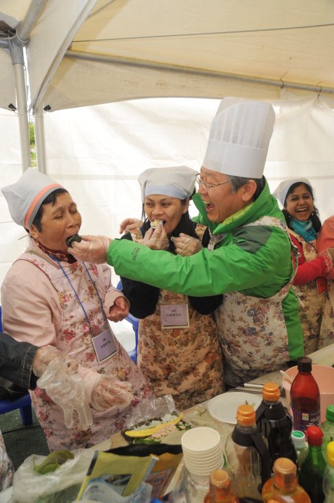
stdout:
[[241,502],[261,501],[261,485],[271,475],[271,458],[251,405],[238,407],[237,424],[226,438],[225,453],[233,493]]

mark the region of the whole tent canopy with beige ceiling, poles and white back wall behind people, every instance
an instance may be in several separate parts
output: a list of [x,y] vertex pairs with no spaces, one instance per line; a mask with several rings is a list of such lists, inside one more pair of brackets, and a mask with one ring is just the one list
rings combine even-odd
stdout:
[[[194,98],[244,96],[276,110],[271,188],[308,177],[324,219],[334,212],[333,25],[332,0],[0,0],[1,186],[29,162],[30,107],[39,145],[45,120],[38,167],[73,194],[84,232],[115,237],[124,216],[139,216],[141,170],[200,167],[217,102]],[[163,99],[175,96],[189,99]],[[123,100],[134,101],[109,104]],[[1,282],[25,240],[2,196],[0,210]]]

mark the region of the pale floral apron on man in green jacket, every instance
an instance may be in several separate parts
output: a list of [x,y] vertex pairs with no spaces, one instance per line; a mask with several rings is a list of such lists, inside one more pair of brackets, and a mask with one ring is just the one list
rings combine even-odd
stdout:
[[[246,226],[251,225],[270,225],[288,234],[285,223],[272,216],[263,216]],[[224,238],[213,236],[209,249],[213,249],[219,237],[219,241]],[[282,301],[289,293],[292,282],[293,278],[269,298],[252,297],[238,291],[224,293],[224,301],[215,311],[215,319],[222,344],[227,385],[236,386],[250,381],[281,368],[289,361]],[[274,331],[272,327],[275,327]]]

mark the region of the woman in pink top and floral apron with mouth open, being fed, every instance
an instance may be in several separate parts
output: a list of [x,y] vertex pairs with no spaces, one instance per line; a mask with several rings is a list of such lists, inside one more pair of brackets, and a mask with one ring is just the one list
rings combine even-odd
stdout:
[[[91,403],[91,427],[83,428],[75,413],[67,428],[62,409],[40,388],[31,392],[32,403],[50,450],[91,447],[123,429],[134,407],[150,395],[143,374],[108,322],[128,314],[128,300],[112,286],[108,266],[81,262],[67,253],[66,240],[79,232],[81,216],[64,188],[29,168],[2,191],[14,221],[29,231],[25,253],[3,281],[3,329],[16,340],[54,346],[79,362]],[[106,380],[111,386],[107,405],[96,404],[94,390]],[[108,401],[108,394],[115,398],[130,389],[127,407],[117,397]]]

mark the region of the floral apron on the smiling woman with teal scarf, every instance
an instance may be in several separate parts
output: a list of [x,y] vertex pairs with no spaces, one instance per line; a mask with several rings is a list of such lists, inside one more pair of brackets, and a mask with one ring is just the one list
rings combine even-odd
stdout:
[[[294,231],[289,230],[292,236],[295,236],[302,244],[302,252],[305,256],[305,261],[309,262],[317,258],[316,241],[312,240],[307,243],[303,238]],[[302,323],[302,333],[304,335],[304,353],[309,355],[313,351],[318,350],[320,324],[324,304],[327,295],[318,294],[318,284],[316,280],[306,284],[294,285],[294,290],[299,300],[299,315]],[[331,344],[329,342],[329,344]]]

